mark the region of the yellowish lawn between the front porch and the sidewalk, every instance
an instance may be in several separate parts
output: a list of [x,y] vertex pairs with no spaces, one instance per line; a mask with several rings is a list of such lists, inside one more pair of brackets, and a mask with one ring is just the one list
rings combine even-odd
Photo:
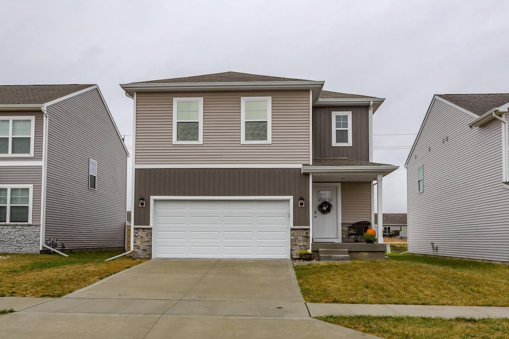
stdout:
[[[392,248],[392,246],[391,246]],[[307,302],[509,306],[509,265],[462,259],[388,255],[296,266]]]

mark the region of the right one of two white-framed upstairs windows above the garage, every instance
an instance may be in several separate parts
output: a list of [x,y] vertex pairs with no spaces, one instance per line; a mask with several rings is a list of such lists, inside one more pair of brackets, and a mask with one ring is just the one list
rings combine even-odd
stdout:
[[240,105],[240,143],[272,143],[272,98],[242,97]]

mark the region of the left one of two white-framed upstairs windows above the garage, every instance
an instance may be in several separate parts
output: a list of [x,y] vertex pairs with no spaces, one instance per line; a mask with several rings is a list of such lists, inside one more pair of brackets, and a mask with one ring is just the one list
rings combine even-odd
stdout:
[[203,144],[203,98],[173,98],[173,143]]

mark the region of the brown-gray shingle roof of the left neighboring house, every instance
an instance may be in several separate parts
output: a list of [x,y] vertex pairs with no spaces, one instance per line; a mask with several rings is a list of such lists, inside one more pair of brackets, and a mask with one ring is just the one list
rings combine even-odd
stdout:
[[44,104],[94,85],[2,85],[0,105]]

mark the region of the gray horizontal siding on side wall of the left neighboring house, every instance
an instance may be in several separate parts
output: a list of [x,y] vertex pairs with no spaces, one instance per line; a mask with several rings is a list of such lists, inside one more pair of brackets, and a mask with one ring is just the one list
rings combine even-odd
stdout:
[[[51,105],[47,157],[46,233],[66,249],[125,246],[127,155],[99,91]],[[97,190],[89,189],[89,159]]]

